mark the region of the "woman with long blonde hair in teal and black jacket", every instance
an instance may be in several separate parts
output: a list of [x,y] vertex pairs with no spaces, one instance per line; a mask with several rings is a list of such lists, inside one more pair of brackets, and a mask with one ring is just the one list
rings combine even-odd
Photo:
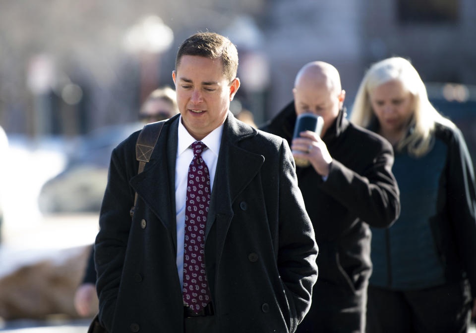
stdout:
[[476,196],[463,135],[400,57],[370,67],[351,120],[393,145],[402,205],[392,227],[372,230],[367,332],[466,332],[476,298]]

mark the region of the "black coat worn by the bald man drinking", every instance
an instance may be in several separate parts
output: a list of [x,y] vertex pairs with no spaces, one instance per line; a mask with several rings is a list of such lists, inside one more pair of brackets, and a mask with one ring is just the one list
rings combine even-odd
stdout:
[[[296,111],[291,102],[262,130],[291,145]],[[399,190],[392,174],[393,149],[382,137],[351,124],[341,110],[323,138],[333,161],[326,181],[310,167],[297,181],[319,245],[319,279],[355,292],[371,273],[370,229],[399,216]]]

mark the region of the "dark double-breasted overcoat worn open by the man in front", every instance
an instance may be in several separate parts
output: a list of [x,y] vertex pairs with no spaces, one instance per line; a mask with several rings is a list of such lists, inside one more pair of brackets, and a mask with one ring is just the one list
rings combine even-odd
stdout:
[[[111,333],[183,332],[174,187],[178,122],[176,116],[164,124],[138,175],[137,132],[112,153],[95,243],[100,320]],[[293,163],[286,141],[229,112],[205,233],[217,332],[294,332],[310,307],[317,247]]]

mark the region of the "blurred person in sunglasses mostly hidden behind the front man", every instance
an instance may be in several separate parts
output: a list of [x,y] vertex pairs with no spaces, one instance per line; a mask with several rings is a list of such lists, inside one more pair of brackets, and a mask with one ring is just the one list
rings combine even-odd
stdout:
[[[154,90],[142,103],[139,118],[145,123],[152,123],[172,118],[179,113],[175,90],[164,86]],[[89,317],[98,312],[96,293],[96,270],[94,269],[94,248],[89,256],[81,285],[74,295],[74,307],[80,316]]]

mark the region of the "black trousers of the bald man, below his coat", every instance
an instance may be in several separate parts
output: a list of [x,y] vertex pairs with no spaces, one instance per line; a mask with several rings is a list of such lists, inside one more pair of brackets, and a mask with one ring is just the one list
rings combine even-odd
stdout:
[[317,280],[312,303],[296,333],[364,333],[366,288],[349,288]]

